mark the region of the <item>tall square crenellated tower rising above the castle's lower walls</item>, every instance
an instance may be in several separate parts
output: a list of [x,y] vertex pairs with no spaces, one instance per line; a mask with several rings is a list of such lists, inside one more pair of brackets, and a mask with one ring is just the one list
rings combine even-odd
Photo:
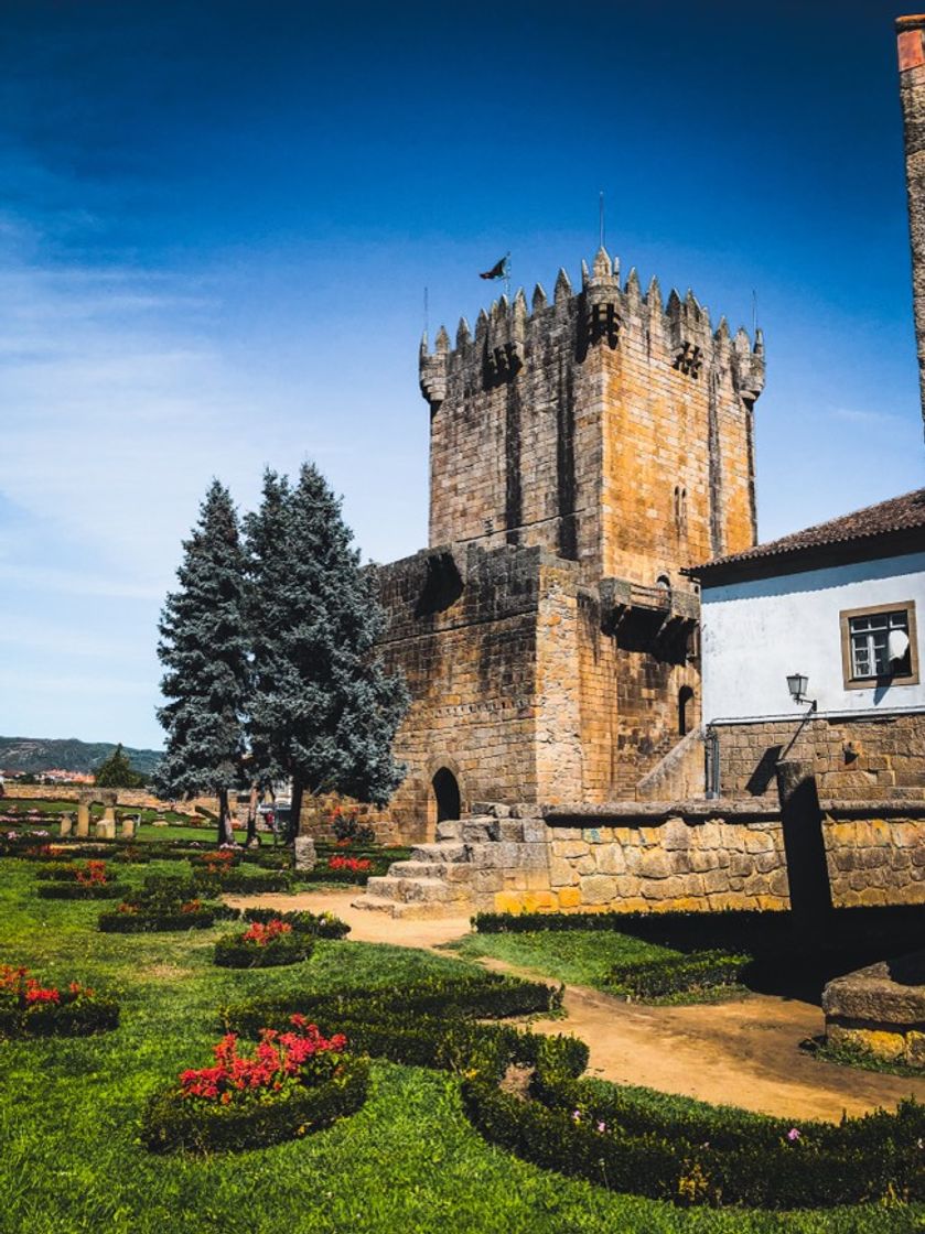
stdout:
[[752,415],[763,346],[688,291],[621,288],[601,249],[573,294],[559,271],[422,344],[431,547],[538,545],[583,580],[653,585],[755,543]]

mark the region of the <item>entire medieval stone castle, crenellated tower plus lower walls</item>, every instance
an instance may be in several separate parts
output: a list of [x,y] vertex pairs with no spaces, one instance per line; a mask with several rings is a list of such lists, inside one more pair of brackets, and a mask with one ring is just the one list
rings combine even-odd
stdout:
[[756,540],[761,333],[601,248],[580,290],[425,339],[420,379],[430,547],[378,571],[412,695],[391,817],[424,840],[479,801],[634,800],[700,723],[682,571]]

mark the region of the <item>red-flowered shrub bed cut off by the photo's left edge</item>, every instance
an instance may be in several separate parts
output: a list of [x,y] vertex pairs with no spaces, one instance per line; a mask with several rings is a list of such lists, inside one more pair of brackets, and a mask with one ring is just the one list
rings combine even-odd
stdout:
[[72,981],[42,986],[30,970],[0,965],[0,1037],[84,1037],[119,1024],[119,1003]]

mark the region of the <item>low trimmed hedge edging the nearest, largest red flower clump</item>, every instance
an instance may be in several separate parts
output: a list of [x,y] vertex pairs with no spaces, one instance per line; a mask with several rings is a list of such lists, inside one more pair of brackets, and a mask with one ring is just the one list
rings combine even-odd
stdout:
[[354,1113],[367,1098],[369,1064],[345,1059],[341,1074],[315,1088],[254,1097],[246,1104],[191,1101],[175,1088],[148,1102],[142,1144],[153,1153],[247,1149],[298,1139]]

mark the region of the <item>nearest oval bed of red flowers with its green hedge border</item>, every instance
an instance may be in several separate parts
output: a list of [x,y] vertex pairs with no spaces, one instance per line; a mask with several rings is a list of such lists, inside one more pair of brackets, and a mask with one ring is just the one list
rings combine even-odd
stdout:
[[301,1016],[290,1024],[263,1029],[251,1056],[238,1053],[233,1034],[224,1037],[215,1066],[180,1072],[177,1086],[151,1099],[142,1143],[152,1151],[261,1148],[359,1109],[367,1061],[345,1056],[342,1034],[325,1039]]

